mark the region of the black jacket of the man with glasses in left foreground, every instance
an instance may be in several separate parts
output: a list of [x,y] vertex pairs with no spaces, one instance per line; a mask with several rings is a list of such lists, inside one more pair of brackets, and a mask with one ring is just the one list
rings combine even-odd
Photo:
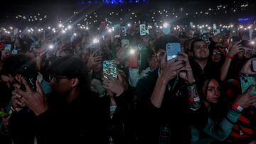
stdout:
[[38,143],[107,143],[107,118],[100,98],[81,92],[70,104],[58,95],[48,99],[49,109],[37,117]]

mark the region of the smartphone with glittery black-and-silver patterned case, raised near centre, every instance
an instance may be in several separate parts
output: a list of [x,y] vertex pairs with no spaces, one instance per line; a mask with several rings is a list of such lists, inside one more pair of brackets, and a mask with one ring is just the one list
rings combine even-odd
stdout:
[[103,77],[107,79],[106,75],[109,75],[117,79],[117,64],[114,60],[103,61]]

